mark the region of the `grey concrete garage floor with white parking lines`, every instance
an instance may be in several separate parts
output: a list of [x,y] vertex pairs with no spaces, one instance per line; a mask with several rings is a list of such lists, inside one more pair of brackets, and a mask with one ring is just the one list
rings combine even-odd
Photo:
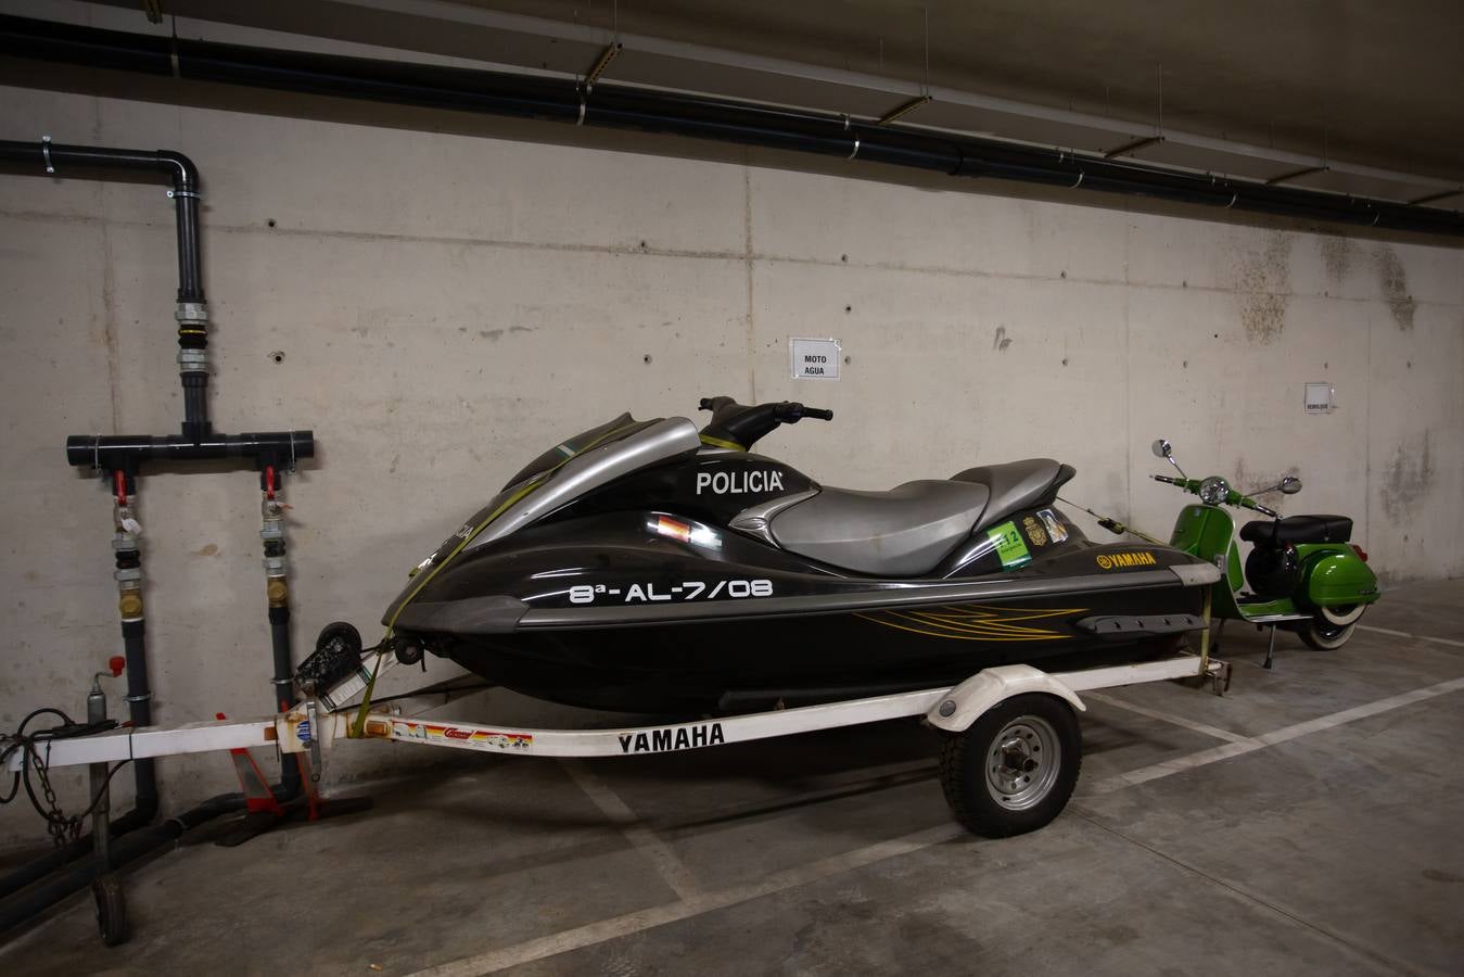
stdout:
[[[454,757],[376,810],[198,832],[0,948],[25,974],[1464,971],[1464,580],[1389,592],[1341,652],[1233,628],[1224,699],[1092,696],[1047,829],[956,829],[934,734]],[[1433,640],[1430,640],[1433,639]],[[408,747],[400,747],[408,748]]]

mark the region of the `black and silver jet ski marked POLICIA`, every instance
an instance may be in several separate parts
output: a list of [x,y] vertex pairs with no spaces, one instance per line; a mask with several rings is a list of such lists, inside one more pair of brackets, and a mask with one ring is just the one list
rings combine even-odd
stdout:
[[621,415],[531,461],[413,570],[386,647],[568,705],[735,712],[1136,661],[1202,627],[1220,571],[1089,542],[1056,505],[1067,464],[829,488],[751,448],[832,412],[701,407],[700,432]]

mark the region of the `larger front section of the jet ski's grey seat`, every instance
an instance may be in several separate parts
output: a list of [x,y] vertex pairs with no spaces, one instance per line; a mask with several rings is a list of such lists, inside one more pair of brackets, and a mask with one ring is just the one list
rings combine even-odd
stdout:
[[824,488],[773,517],[789,552],[875,577],[918,577],[971,535],[990,492],[966,482],[906,482],[889,492]]

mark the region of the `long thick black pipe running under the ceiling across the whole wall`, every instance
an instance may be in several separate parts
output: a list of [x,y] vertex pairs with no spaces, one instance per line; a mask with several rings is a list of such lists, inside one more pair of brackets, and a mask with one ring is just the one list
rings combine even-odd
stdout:
[[845,116],[433,64],[102,31],[0,18],[0,54],[281,91],[637,129],[1155,199],[1464,236],[1458,211],[1165,170],[1132,160],[950,136]]

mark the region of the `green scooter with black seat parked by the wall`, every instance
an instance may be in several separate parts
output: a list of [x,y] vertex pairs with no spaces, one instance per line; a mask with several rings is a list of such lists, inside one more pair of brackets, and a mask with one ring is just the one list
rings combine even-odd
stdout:
[[[1249,621],[1258,628],[1271,625],[1265,668],[1275,653],[1277,627],[1294,631],[1318,650],[1338,649],[1353,636],[1357,618],[1375,602],[1378,577],[1367,567],[1367,554],[1350,543],[1353,520],[1345,516],[1287,516],[1256,502],[1252,495],[1301,491],[1301,479],[1285,476],[1280,483],[1243,495],[1218,476],[1192,479],[1174,460],[1174,448],[1159,438],[1155,457],[1174,466],[1179,478],[1152,476],[1192,495],[1199,505],[1186,505],[1174,523],[1170,545],[1209,560],[1225,574],[1215,583],[1212,614]],[[1255,520],[1240,527],[1240,538],[1255,543],[1240,570],[1234,520],[1221,505],[1249,508],[1269,520]],[[1250,592],[1243,592],[1244,584]],[[1217,639],[1218,642],[1218,639]]]

